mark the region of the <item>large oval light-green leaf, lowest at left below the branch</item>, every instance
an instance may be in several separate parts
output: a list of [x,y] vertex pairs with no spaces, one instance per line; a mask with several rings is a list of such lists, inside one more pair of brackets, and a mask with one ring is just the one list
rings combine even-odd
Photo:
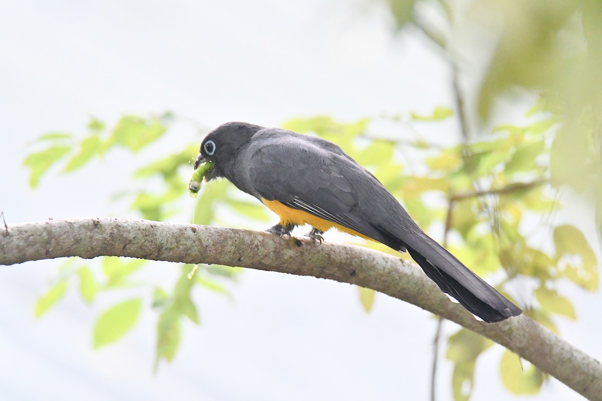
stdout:
[[94,326],[94,347],[113,343],[134,328],[141,306],[141,299],[130,299],[105,310]]

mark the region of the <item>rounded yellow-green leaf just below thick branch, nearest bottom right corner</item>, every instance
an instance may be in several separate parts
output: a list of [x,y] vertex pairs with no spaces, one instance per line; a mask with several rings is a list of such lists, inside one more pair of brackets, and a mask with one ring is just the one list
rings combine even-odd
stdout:
[[501,381],[514,394],[537,394],[544,382],[544,373],[532,364],[524,369],[521,360],[510,350],[504,352],[500,361]]

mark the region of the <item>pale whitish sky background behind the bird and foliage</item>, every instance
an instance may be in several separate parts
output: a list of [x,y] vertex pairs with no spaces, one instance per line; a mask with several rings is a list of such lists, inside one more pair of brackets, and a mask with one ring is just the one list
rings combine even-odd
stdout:
[[[126,215],[109,201],[127,188],[124,172],[135,168],[126,152],[81,173],[49,173],[36,191],[27,185],[26,145],[49,131],[83,133],[90,115],[111,124],[124,113],[169,109],[213,128],[231,120],[277,126],[316,114],[343,121],[426,114],[437,105],[452,105],[444,60],[415,32],[393,37],[385,13],[358,2],[0,0],[0,210],[8,223]],[[433,141],[458,135],[452,123],[438,129],[445,132]],[[181,124],[148,151],[149,159],[195,138],[200,142]],[[592,232],[586,217],[564,218]],[[175,360],[153,375],[157,316],[149,308],[123,340],[92,350],[95,318],[123,294],[102,295],[88,308],[72,288],[34,318],[57,264],[0,268],[0,400],[429,396],[435,319],[405,302],[379,295],[366,314],[355,287],[244,271],[230,286],[233,302],[194,294],[202,326],[185,323]],[[158,264],[151,274],[170,281],[178,270]],[[602,359],[602,296],[566,290],[578,320],[559,320],[562,336]],[[501,352],[479,359],[473,400],[514,399],[499,379]],[[451,374],[442,357],[439,400],[452,399]],[[524,399],[580,397],[551,380],[539,396]]]

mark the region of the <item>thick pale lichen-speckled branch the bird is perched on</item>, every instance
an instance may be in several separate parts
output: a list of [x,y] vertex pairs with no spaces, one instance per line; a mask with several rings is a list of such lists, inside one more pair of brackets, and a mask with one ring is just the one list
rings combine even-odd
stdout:
[[371,249],[282,239],[233,228],[120,219],[79,218],[8,225],[0,265],[79,256],[126,256],[219,263],[314,276],[371,288],[452,320],[514,351],[591,400],[602,400],[602,365],[524,314],[479,322],[448,301],[412,263]]

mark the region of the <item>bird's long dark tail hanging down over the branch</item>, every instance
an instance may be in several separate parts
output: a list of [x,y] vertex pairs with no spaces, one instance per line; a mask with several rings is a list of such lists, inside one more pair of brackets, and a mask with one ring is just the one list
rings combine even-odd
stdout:
[[[395,245],[405,245],[426,275],[468,311],[488,323],[500,322],[523,312],[423,231],[404,231],[403,241],[395,236]],[[390,232],[386,234],[392,239]]]

